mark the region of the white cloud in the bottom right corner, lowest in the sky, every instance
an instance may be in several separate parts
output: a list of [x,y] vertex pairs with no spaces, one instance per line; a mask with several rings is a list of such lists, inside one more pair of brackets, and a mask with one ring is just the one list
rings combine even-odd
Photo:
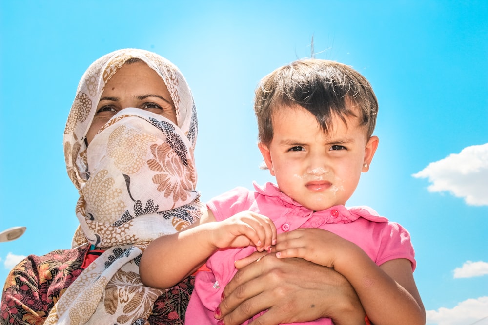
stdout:
[[487,325],[488,297],[468,299],[452,309],[427,310],[426,324],[437,325]]

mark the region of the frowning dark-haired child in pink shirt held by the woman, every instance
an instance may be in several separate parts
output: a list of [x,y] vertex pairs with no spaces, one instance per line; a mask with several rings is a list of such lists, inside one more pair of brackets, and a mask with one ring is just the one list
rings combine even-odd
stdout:
[[142,281],[168,288],[206,262],[185,324],[223,324],[219,304],[234,261],[266,250],[334,268],[375,325],[425,324],[407,230],[370,208],[345,207],[378,146],[377,111],[369,82],[341,63],[301,60],[265,76],[255,98],[258,147],[278,186],[212,199],[195,224],[149,245]]

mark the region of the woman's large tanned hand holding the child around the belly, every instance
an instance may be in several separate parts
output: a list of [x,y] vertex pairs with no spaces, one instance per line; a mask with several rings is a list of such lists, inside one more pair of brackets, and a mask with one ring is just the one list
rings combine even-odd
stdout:
[[225,298],[219,305],[225,325],[241,324],[266,309],[252,324],[277,325],[322,317],[332,318],[336,325],[364,324],[365,312],[356,292],[332,268],[301,258],[260,255],[236,262],[236,267],[242,268],[225,287]]

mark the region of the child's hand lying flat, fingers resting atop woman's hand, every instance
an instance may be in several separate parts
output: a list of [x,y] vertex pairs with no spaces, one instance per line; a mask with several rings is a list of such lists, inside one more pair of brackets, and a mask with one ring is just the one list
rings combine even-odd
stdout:
[[299,228],[280,233],[272,251],[276,257],[301,257],[315,264],[333,268],[337,258],[348,254],[353,243],[323,229]]

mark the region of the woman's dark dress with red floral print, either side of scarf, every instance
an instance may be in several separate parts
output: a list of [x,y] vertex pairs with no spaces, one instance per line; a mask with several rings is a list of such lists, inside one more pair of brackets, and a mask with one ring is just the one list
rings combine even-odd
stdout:
[[[80,275],[89,245],[28,256],[10,272],[0,309],[1,324],[44,323],[60,296]],[[184,279],[158,297],[147,322],[151,325],[183,325],[194,277]],[[138,320],[136,324],[144,324]]]

